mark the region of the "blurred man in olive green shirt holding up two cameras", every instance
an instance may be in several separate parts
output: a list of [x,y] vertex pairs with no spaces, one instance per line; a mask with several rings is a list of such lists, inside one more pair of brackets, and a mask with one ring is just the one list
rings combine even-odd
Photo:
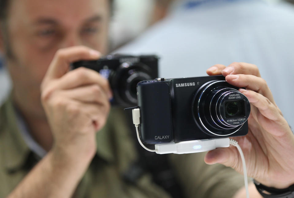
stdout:
[[[149,173],[135,180],[126,174],[138,153],[124,113],[117,108],[109,114],[107,80],[86,68],[69,71],[71,62],[95,60],[107,52],[109,2],[0,2],[0,46],[13,81],[11,97],[0,111],[0,196],[170,197]],[[248,174],[264,185],[287,188],[294,183],[293,134],[258,68],[245,63],[231,67],[231,75],[223,65],[208,74],[222,72],[227,82],[248,89],[240,91],[254,109],[250,132],[238,139]],[[205,161],[215,164],[211,166],[204,165],[204,155],[170,156],[185,195],[245,196],[242,176],[215,164],[242,172],[236,149],[208,153]],[[250,192],[259,196],[254,186]]]

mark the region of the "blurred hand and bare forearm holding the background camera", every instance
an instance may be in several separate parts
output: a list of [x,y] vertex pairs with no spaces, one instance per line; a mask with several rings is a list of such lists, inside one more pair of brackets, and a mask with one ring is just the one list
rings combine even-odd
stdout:
[[99,57],[99,52],[81,46],[56,52],[41,85],[54,144],[9,197],[73,195],[96,153],[95,133],[105,125],[112,93],[99,73],[68,70],[74,61]]

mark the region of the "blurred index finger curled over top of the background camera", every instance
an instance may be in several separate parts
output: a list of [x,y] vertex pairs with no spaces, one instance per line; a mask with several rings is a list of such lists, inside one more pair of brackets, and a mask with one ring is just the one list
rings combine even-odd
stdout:
[[45,78],[56,79],[63,76],[72,62],[78,60],[95,60],[101,56],[100,52],[85,46],[74,46],[59,49],[47,70]]

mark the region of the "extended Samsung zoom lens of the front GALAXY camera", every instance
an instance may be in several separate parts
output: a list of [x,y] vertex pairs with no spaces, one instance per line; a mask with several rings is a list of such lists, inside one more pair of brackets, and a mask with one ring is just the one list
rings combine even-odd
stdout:
[[204,132],[230,135],[247,121],[250,103],[237,89],[226,81],[217,80],[200,87],[193,100],[193,116]]

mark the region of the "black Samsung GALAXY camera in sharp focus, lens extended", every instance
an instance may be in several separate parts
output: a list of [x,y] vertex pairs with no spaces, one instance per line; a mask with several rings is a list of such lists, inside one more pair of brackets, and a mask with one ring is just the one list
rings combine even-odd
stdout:
[[141,141],[160,144],[246,135],[250,103],[238,89],[223,76],[139,82]]

